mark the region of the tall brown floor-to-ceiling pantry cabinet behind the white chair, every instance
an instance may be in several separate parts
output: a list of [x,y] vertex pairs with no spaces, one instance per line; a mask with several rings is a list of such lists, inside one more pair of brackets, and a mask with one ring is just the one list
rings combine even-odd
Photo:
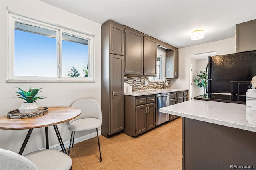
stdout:
[[101,26],[101,134],[124,130],[124,27],[111,20]]

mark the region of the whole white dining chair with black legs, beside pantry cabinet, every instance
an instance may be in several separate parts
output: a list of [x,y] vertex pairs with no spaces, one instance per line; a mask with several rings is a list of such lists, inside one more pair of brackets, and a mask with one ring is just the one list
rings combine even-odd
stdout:
[[[85,131],[85,130],[93,130],[96,129],[97,138],[98,138],[98,146],[100,152],[100,140],[98,134],[98,128],[101,127],[102,123],[102,113],[100,104],[98,101],[94,99],[80,99],[75,101],[72,104],[72,107],[76,107],[81,109],[81,115],[76,119],[69,121],[68,130],[71,131],[70,144],[68,149],[68,155],[70,153],[70,147],[72,143],[72,147],[74,146],[74,137],[75,132],[77,131]],[[102,162],[101,152],[100,152],[100,162]]]

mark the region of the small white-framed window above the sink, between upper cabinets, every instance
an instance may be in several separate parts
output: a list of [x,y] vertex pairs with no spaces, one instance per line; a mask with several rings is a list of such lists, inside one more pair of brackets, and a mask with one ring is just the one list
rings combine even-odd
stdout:
[[156,57],[156,77],[149,77],[151,82],[164,81],[165,75],[165,49],[158,47]]

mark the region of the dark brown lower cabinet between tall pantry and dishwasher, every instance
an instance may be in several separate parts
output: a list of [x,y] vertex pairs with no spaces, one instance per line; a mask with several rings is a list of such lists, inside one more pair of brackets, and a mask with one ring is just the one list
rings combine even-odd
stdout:
[[124,133],[138,136],[156,127],[156,95],[125,95]]

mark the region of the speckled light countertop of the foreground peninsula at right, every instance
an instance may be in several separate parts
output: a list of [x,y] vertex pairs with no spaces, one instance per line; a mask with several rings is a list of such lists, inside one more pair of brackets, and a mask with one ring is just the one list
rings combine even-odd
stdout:
[[256,111],[244,104],[189,100],[162,107],[160,112],[256,132]]

